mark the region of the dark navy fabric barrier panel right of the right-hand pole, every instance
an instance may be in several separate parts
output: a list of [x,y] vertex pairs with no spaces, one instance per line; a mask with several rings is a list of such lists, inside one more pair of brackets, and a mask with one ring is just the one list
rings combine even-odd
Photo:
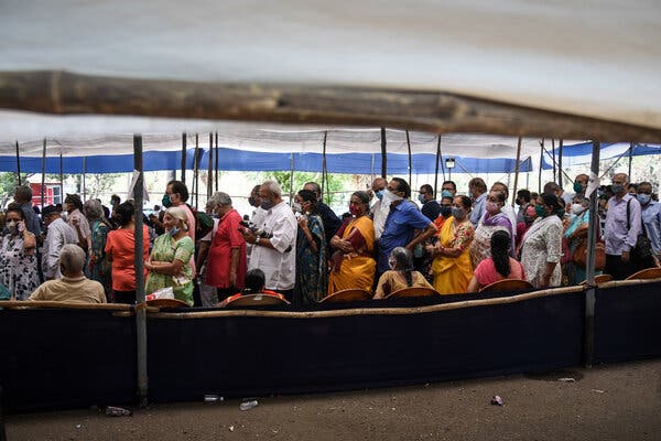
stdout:
[[595,363],[661,356],[661,282],[599,288]]

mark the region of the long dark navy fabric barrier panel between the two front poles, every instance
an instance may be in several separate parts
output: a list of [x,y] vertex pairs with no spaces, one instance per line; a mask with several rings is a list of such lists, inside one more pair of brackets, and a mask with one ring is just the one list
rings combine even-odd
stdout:
[[150,316],[150,400],[397,386],[582,361],[583,292],[424,313],[342,313]]

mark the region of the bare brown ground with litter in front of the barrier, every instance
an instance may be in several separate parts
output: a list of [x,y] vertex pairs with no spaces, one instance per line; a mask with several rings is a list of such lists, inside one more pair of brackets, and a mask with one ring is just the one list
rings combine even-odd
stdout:
[[[572,377],[575,383],[560,381]],[[494,395],[503,407],[491,406]],[[202,401],[202,399],[201,399]],[[394,389],[7,417],[13,440],[659,440],[661,361]]]

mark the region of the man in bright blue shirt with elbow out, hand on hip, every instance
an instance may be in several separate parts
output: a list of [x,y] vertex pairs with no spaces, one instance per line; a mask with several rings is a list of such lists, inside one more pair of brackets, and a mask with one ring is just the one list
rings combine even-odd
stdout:
[[[379,239],[379,256],[377,260],[377,270],[382,275],[388,269],[388,257],[397,247],[405,247],[413,251],[418,244],[423,243],[427,237],[437,233],[434,223],[420,213],[418,206],[409,198],[411,197],[411,186],[401,178],[393,178],[386,187],[387,194],[382,203],[390,204],[390,213],[386,218],[386,227]],[[416,229],[422,233],[414,236]]]

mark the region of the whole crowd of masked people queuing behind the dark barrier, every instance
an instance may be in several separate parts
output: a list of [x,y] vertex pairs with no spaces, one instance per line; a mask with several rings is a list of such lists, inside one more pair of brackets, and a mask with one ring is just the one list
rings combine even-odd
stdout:
[[[534,288],[576,284],[586,278],[593,215],[605,273],[618,280],[659,267],[661,205],[652,183],[615,174],[595,193],[596,214],[587,186],[579,174],[573,192],[554,182],[541,194],[519,190],[514,209],[505,183],[487,187],[474,178],[467,195],[444,182],[438,200],[422,185],[419,206],[405,180],[378,178],[337,216],[315,182],[288,203],[278,182],[266,181],[250,193],[252,212],[241,216],[225,192],[198,212],[187,204],[186,185],[171,181],[163,209],[143,218],[144,290],[172,289],[189,305],[215,306],[256,291],[312,304],[345,289],[381,299],[407,287],[477,292],[502,279]],[[62,207],[46,206],[41,217],[31,202],[30,187],[19,186],[4,212],[2,292],[17,300],[136,302],[131,201],[113,195],[105,206],[67,194]]]

